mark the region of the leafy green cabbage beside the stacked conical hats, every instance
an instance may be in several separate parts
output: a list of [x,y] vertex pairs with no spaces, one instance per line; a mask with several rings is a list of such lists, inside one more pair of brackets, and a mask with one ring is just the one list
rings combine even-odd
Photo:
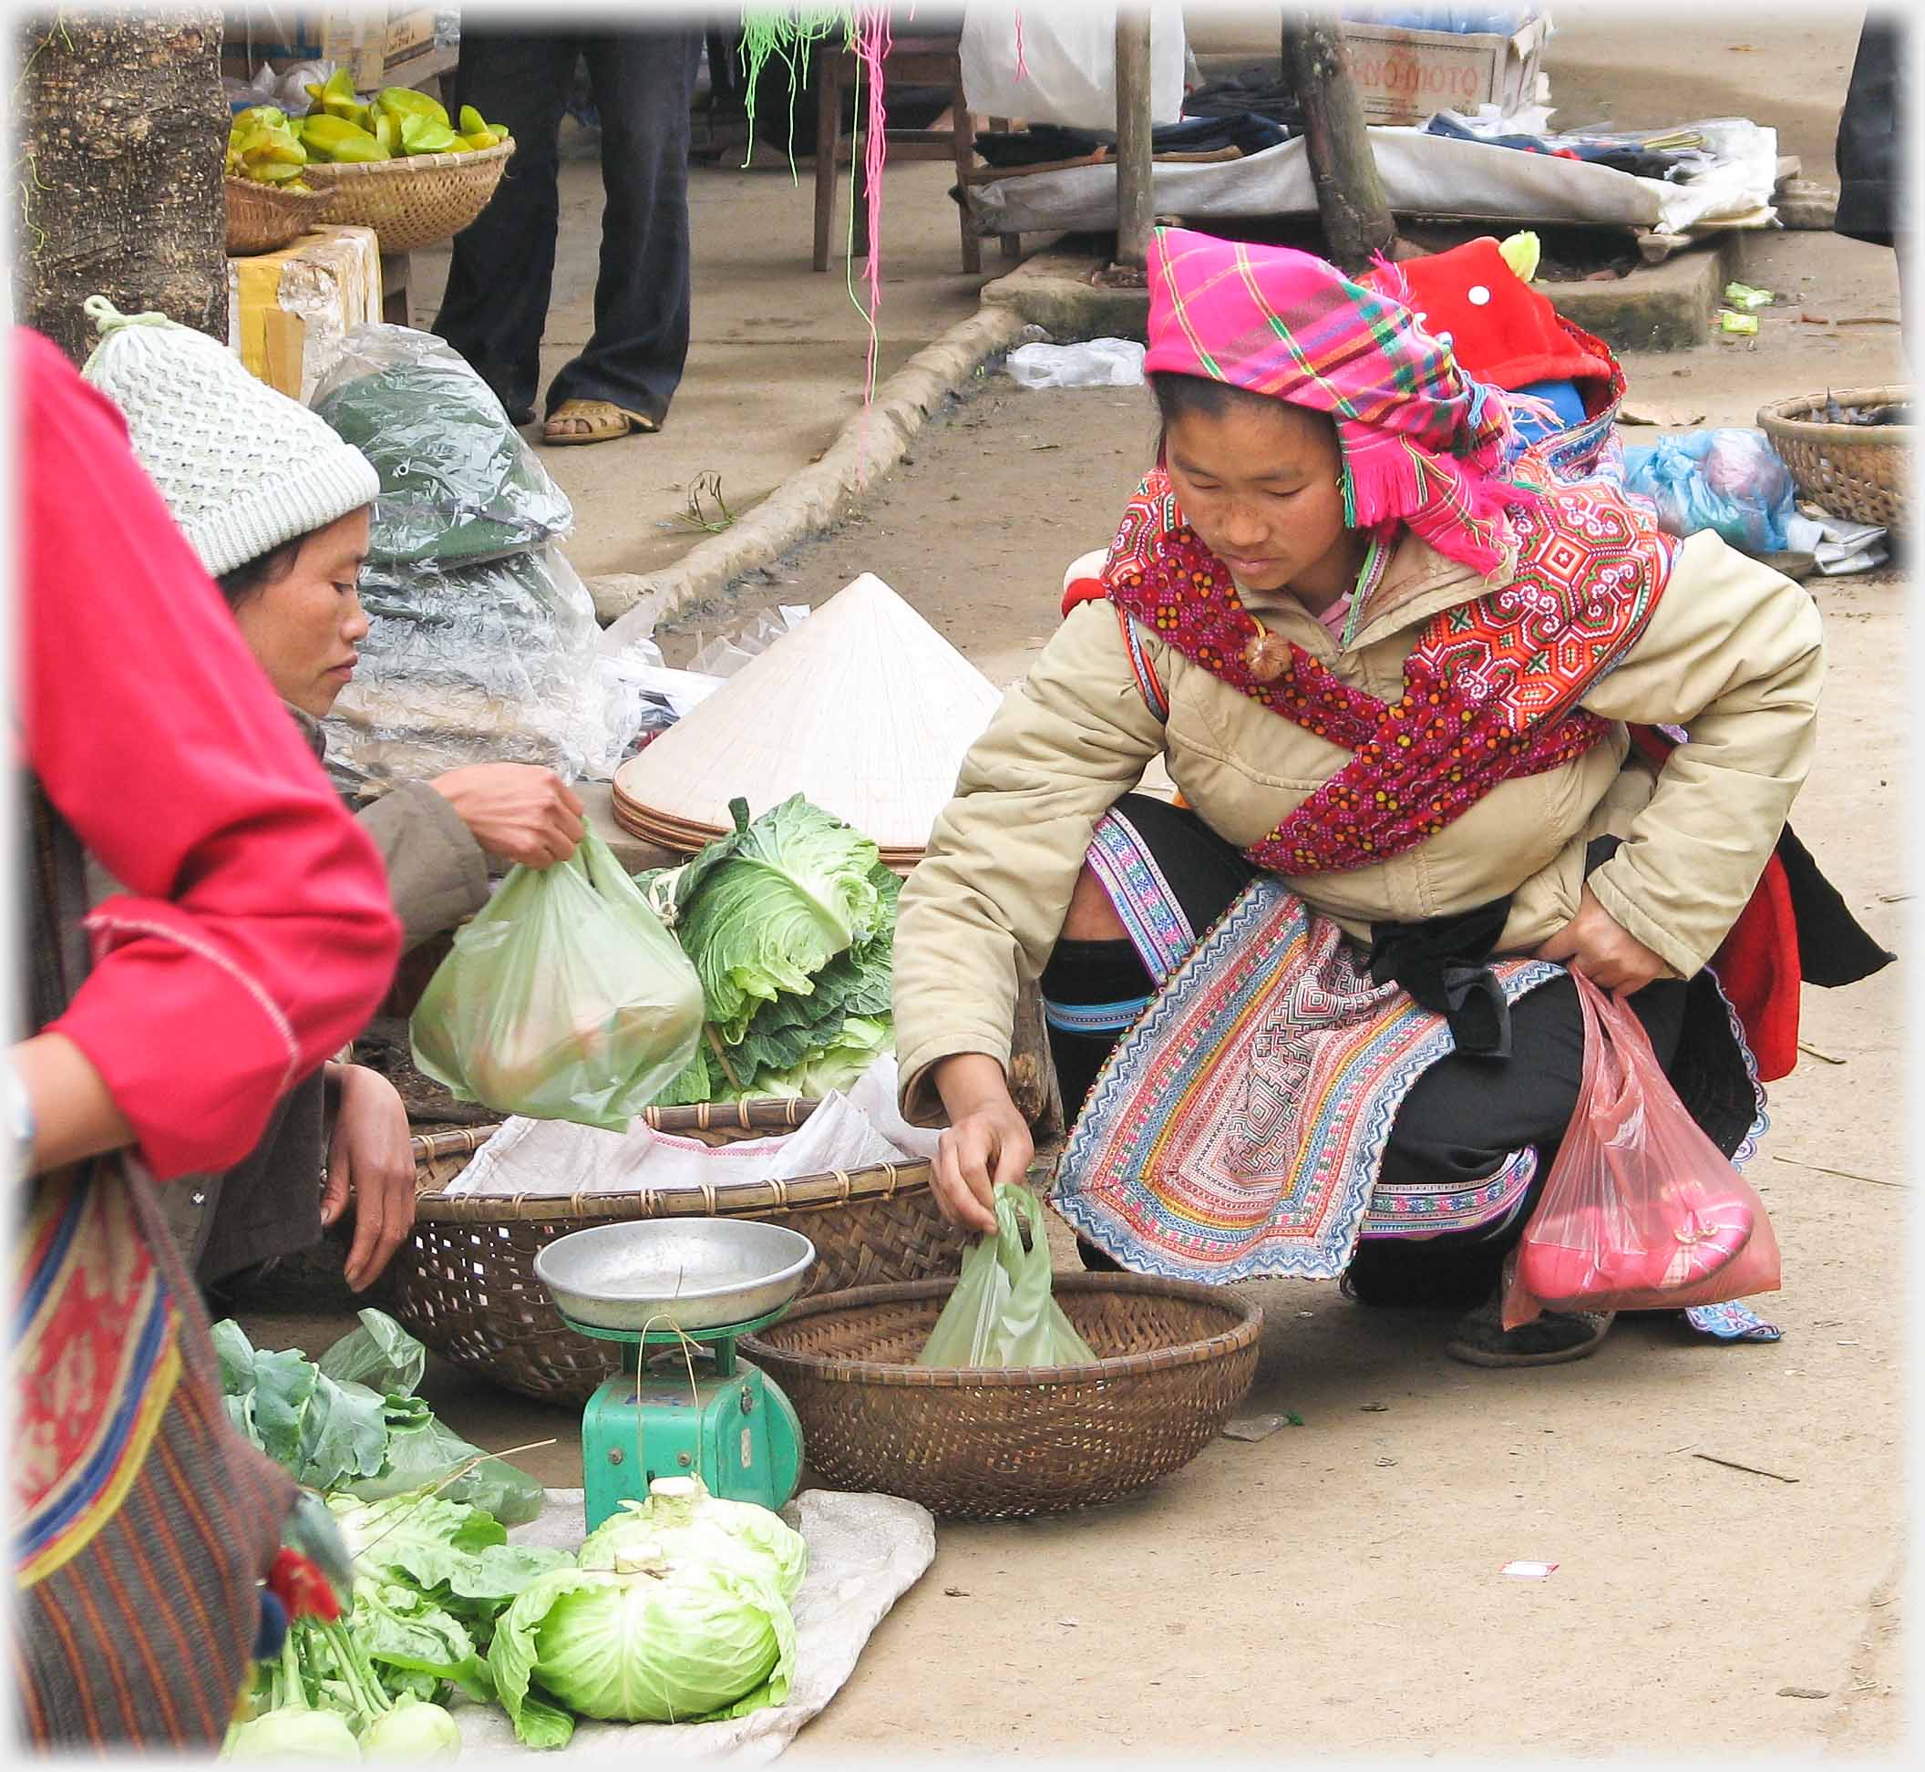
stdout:
[[730,813],[733,834],[681,871],[676,934],[708,1021],[733,1044],[758,1003],[808,996],[816,973],[876,932],[882,894],[876,846],[801,795],[753,824],[747,801]]

